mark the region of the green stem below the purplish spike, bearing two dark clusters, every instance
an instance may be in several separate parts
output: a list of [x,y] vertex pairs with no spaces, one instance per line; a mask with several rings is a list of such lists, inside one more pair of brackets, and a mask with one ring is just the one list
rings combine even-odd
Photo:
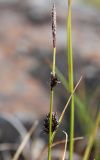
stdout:
[[[53,48],[52,74],[54,76],[55,76],[55,64],[56,64],[56,48]],[[51,92],[50,92],[50,119],[49,119],[48,160],[51,160],[53,97],[54,97],[54,91],[52,89]]]

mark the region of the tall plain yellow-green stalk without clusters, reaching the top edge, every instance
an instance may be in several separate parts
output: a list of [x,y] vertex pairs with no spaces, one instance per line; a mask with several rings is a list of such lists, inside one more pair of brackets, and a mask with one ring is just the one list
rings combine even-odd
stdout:
[[[68,19],[67,19],[67,47],[68,47],[68,77],[69,77],[69,91],[72,94],[74,89],[73,84],[73,53],[72,53],[72,31],[71,31],[71,0],[68,0]],[[74,150],[74,95],[71,99],[71,113],[70,113],[70,151],[69,160],[73,159]]]

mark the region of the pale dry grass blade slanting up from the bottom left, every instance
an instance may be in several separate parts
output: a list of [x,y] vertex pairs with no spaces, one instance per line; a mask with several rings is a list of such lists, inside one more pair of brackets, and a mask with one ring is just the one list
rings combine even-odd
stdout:
[[27,142],[29,141],[32,133],[34,132],[36,126],[37,126],[38,122],[36,121],[35,124],[31,127],[31,129],[29,130],[29,132],[26,134],[26,136],[24,137],[22,143],[20,144],[20,146],[18,147],[18,150],[16,151],[14,157],[12,158],[12,160],[18,160],[20,154],[22,153],[25,145],[27,144]]

